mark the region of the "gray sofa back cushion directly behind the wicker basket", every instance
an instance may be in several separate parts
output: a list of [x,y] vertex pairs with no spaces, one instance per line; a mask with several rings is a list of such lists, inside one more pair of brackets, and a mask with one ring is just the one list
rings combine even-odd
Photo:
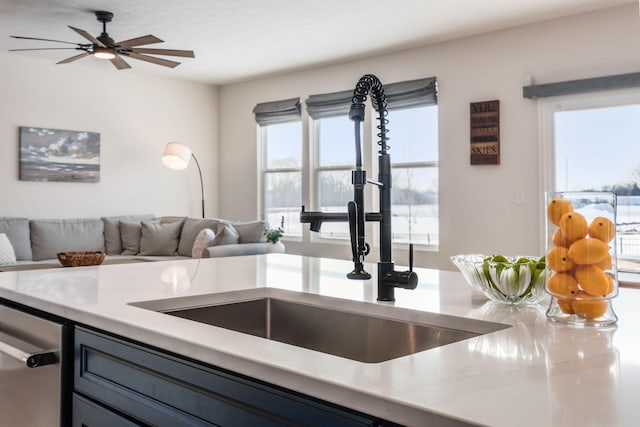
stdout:
[[99,218],[32,219],[33,259],[56,258],[58,252],[104,251],[104,224]]

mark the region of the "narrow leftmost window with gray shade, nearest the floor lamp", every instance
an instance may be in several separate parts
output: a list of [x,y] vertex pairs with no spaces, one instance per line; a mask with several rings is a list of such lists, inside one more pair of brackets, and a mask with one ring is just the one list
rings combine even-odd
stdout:
[[284,238],[302,236],[302,122],[300,99],[258,104],[259,215],[271,227],[284,225]]

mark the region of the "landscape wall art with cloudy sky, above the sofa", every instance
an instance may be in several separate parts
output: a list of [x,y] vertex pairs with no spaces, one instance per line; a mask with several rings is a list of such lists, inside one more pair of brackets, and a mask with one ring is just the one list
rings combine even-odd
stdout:
[[100,182],[100,134],[20,127],[20,180]]

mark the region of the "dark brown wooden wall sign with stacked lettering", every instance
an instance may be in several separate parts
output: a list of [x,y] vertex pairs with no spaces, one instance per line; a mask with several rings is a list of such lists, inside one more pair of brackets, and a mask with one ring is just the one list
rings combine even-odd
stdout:
[[472,102],[471,164],[500,164],[500,101]]

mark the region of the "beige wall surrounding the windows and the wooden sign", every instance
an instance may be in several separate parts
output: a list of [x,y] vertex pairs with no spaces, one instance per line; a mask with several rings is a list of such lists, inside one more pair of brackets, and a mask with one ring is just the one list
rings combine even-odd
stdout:
[[[366,28],[363,33],[374,36]],[[453,269],[449,256],[458,253],[542,254],[537,103],[522,97],[522,86],[530,76],[536,83],[549,83],[640,71],[639,45],[638,6],[628,5],[224,86],[221,216],[256,216],[256,130],[251,112],[256,103],[295,96],[304,100],[309,94],[350,89],[365,73],[376,74],[383,83],[437,76],[440,250],[417,254],[416,264]],[[501,164],[471,166],[469,103],[491,99],[500,100]],[[514,203],[516,191],[524,194],[519,206]],[[305,235],[301,244],[287,243],[288,252],[350,258],[346,246],[336,249],[309,244],[307,239]],[[372,255],[370,261],[375,260]],[[402,262],[406,253],[396,251],[394,258]]]

